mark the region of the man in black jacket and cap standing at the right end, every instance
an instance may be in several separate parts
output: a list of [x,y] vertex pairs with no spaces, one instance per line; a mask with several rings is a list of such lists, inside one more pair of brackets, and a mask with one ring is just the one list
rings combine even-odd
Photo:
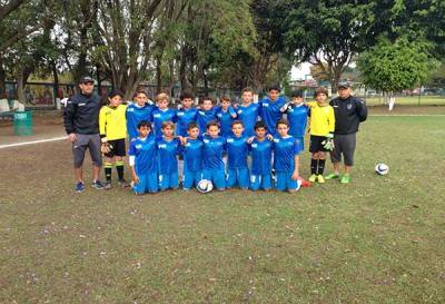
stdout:
[[338,85],[338,97],[329,102],[335,114],[334,150],[330,153],[330,161],[334,164],[334,173],[326,179],[340,178],[340,161],[344,158],[345,168],[340,183],[350,182],[350,168],[354,165],[354,151],[356,147],[356,133],[362,121],[368,116],[365,101],[352,96],[350,84]]

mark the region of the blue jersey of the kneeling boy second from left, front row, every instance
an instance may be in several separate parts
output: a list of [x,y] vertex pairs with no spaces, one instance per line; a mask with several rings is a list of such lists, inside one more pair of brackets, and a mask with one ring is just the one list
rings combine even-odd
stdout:
[[177,138],[167,141],[164,137],[157,139],[159,174],[172,174],[178,171],[178,154],[180,141]]

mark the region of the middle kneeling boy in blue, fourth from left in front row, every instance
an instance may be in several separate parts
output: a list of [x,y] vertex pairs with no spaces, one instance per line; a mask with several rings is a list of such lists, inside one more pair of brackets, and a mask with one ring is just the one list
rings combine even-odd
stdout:
[[226,138],[219,136],[219,125],[210,121],[202,137],[202,178],[210,180],[218,190],[226,189],[226,173],[222,155],[226,151]]

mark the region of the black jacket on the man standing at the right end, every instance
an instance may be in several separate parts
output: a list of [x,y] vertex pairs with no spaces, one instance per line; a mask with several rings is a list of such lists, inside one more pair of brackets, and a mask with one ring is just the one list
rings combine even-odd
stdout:
[[349,96],[346,99],[334,98],[329,102],[335,114],[334,134],[347,135],[358,131],[358,125],[368,117],[365,100]]

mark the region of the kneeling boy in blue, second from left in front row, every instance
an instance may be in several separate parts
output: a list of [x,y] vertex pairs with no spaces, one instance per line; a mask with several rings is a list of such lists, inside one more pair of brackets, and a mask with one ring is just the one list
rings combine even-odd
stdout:
[[175,137],[175,124],[162,122],[162,137],[157,139],[158,171],[160,190],[177,189],[178,180],[178,154],[180,140]]

